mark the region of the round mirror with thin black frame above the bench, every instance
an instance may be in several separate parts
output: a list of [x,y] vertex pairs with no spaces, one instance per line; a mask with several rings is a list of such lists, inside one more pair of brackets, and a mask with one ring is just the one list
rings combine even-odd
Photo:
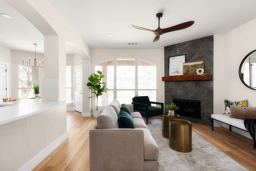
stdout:
[[242,60],[239,66],[239,78],[246,87],[256,90],[256,50]]

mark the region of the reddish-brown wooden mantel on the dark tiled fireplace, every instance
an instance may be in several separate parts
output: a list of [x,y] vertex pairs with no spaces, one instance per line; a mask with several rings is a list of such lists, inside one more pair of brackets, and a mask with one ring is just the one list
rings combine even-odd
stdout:
[[200,75],[190,75],[190,76],[169,76],[162,77],[164,82],[173,82],[173,81],[192,81],[192,80],[212,80],[212,74]]

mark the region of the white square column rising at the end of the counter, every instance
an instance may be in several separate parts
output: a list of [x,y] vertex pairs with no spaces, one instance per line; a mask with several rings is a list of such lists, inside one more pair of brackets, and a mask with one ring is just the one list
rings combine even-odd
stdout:
[[42,83],[43,101],[66,100],[66,42],[60,36],[44,36]]

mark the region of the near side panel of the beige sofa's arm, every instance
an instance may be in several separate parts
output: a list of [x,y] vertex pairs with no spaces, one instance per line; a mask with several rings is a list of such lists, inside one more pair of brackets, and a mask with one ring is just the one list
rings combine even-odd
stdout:
[[143,170],[143,130],[90,129],[89,141],[90,171]]

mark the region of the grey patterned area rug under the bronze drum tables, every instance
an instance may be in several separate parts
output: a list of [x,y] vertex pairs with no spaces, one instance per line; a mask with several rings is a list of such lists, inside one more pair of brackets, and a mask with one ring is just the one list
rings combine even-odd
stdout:
[[247,171],[193,131],[192,151],[182,153],[169,147],[161,124],[148,124],[148,129],[159,147],[159,171]]

